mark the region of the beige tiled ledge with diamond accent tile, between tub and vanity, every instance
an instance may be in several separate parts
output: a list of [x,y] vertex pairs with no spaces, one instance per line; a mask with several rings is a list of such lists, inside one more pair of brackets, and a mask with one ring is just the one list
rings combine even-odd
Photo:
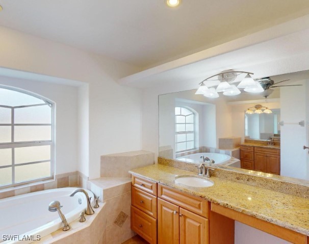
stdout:
[[106,203],[107,243],[121,244],[133,237],[135,233],[131,230],[131,178],[101,177],[90,180],[88,187]]

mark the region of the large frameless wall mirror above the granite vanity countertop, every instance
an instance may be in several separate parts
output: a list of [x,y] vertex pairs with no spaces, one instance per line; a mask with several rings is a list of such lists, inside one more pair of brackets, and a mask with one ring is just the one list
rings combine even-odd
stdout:
[[[241,168],[240,144],[274,141],[279,150],[279,176],[261,175],[309,184],[309,154],[303,150],[309,144],[309,70],[270,79],[288,81],[272,88],[267,98],[242,92],[210,99],[196,95],[196,90],[159,95],[159,156],[200,163],[199,157],[209,153],[216,167],[257,174]],[[255,111],[256,105],[272,113],[246,113],[248,108]],[[224,144],[226,138],[236,143],[230,149]]]

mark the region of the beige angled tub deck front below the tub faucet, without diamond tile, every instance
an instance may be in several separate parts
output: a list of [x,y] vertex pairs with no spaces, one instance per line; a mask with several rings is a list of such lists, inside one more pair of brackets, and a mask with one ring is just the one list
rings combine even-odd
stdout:
[[100,204],[94,209],[94,214],[86,215],[86,221],[81,223],[79,219],[69,224],[68,231],[59,229],[35,243],[57,243],[57,244],[106,244],[106,204]]

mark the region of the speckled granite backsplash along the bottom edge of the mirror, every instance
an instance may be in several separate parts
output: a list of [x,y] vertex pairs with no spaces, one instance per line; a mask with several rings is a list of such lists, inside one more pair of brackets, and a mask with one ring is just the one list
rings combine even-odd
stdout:
[[[197,168],[192,163],[159,157],[158,164],[197,173]],[[243,168],[237,168],[237,172],[233,167],[213,168],[215,170],[211,172],[211,176],[309,199],[309,185],[307,181],[255,172]]]

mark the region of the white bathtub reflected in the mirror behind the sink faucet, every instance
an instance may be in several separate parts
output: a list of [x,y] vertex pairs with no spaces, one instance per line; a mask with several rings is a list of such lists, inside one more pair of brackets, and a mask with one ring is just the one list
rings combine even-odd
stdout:
[[194,153],[185,156],[177,157],[177,160],[186,161],[189,163],[200,163],[203,159],[200,156],[208,157],[215,160],[215,164],[227,163],[230,160],[230,156],[221,153]]

